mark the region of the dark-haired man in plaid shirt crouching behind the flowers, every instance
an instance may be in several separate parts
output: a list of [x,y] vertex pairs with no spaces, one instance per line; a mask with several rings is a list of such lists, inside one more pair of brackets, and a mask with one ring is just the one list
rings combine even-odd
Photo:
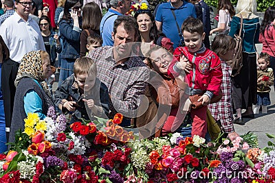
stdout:
[[148,68],[131,51],[137,35],[137,21],[131,16],[118,16],[112,32],[113,47],[94,49],[88,56],[96,62],[97,77],[109,90],[109,118],[120,112],[128,119],[122,126],[130,125],[129,119],[135,117],[148,82]]

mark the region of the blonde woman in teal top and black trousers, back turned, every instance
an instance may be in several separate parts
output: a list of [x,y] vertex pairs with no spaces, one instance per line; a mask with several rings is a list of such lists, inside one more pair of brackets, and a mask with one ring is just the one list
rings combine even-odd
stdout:
[[[232,18],[229,35],[239,34],[241,19],[243,25],[241,38],[243,38],[243,66],[239,75],[232,77],[232,98],[237,117],[234,123],[243,125],[242,118],[254,118],[252,104],[257,102],[257,71],[256,47],[259,40],[260,23],[256,15],[256,0],[239,0],[236,5],[236,15]],[[241,109],[246,111],[241,114]]]

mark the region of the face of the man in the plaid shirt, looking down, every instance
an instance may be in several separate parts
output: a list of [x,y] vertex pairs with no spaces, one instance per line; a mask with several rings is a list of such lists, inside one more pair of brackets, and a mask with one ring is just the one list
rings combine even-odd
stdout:
[[[135,32],[126,32],[124,29],[124,25],[118,25],[116,29],[116,33],[113,34],[113,47],[114,47],[114,56],[120,60],[119,58],[127,58],[130,56],[131,47],[129,46],[129,42],[135,42]],[[118,58],[119,57],[119,58]],[[117,60],[116,59],[116,60]]]

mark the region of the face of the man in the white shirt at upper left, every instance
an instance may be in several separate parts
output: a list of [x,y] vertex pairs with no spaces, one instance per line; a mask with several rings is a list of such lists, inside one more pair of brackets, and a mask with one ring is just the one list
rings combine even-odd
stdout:
[[32,0],[19,0],[19,2],[15,2],[15,7],[17,8],[17,13],[21,16],[25,21],[28,20],[28,16],[32,11]]

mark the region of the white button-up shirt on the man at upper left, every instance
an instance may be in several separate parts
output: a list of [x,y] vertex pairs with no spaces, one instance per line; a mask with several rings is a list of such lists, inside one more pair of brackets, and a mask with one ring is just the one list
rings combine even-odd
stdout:
[[39,25],[30,16],[28,21],[24,21],[14,12],[0,26],[0,35],[10,50],[10,58],[16,62],[20,63],[25,53],[30,51],[45,51]]

